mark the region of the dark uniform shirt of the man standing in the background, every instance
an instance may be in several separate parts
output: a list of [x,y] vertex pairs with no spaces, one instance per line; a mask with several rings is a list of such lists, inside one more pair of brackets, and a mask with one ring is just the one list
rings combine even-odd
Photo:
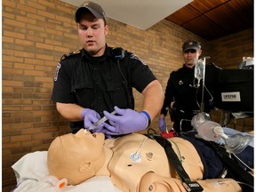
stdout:
[[[193,68],[188,68],[183,65],[177,71],[172,71],[167,82],[167,86],[164,94],[164,105],[161,110],[161,114],[166,116],[167,107],[171,106],[178,110],[183,110],[185,113],[192,114],[193,110],[200,110],[200,104],[202,102],[202,80],[199,89],[196,89],[193,85],[195,81]],[[213,63],[205,65],[205,80],[204,84],[208,91],[213,92],[214,84],[217,83],[220,68],[216,67]],[[204,108],[205,112],[208,112],[211,108],[210,102],[211,95],[204,89]],[[199,106],[198,106],[199,105]]]

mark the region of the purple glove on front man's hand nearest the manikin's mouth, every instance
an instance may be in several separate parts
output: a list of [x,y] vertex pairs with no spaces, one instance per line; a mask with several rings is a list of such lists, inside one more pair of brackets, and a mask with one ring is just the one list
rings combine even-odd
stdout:
[[[89,127],[92,126],[92,124],[94,124],[95,122],[100,120],[100,114],[90,108],[84,108],[81,116],[84,119],[84,128],[85,129],[88,129]],[[101,130],[103,128],[103,126],[104,126],[104,124],[99,124],[96,128],[98,130]]]

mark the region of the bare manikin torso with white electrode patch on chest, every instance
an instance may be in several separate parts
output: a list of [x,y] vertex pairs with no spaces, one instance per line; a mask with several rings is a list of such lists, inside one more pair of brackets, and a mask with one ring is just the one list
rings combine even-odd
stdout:
[[[182,165],[186,171],[188,169],[190,178],[202,179],[203,164],[196,149],[187,140],[171,140],[172,148],[182,159]],[[108,172],[112,182],[123,191],[138,191],[140,180],[147,172],[178,178],[169,165],[164,148],[156,140],[133,133],[116,140],[106,140],[104,146],[106,161],[97,175],[106,175]]]

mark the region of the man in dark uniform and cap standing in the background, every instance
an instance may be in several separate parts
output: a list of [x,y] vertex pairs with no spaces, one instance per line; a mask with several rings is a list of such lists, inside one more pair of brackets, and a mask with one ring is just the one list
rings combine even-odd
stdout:
[[[172,71],[165,89],[164,105],[158,124],[161,132],[165,132],[166,129],[164,118],[168,111],[173,122],[173,129],[178,134],[180,133],[180,124],[182,132],[192,130],[190,120],[200,112],[202,84],[199,88],[196,88],[194,70],[196,60],[198,60],[202,53],[201,44],[196,40],[189,39],[182,45],[182,53],[185,63],[182,68]],[[206,113],[212,109],[212,92],[219,72],[220,68],[216,67],[213,63],[205,65],[204,112]]]

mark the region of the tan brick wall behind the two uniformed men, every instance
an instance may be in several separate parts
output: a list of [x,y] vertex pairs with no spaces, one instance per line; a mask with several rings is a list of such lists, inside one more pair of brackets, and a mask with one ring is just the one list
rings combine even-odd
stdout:
[[[2,188],[9,192],[16,184],[12,164],[29,152],[47,150],[56,136],[70,131],[51,101],[52,79],[62,54],[81,46],[74,6],[58,0],[3,0],[2,7]],[[188,38],[201,41],[205,55],[225,67],[241,61],[238,53],[253,56],[252,29],[206,42],[167,20],[146,31],[110,19],[108,25],[108,45],[122,46],[140,56],[163,89],[169,73],[182,65],[180,47]],[[134,95],[140,110],[142,97],[136,91]],[[156,131],[157,123],[156,119],[152,124]]]

